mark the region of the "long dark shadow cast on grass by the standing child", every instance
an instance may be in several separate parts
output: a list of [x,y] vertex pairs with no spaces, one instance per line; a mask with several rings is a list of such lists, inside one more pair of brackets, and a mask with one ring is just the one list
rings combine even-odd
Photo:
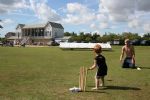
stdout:
[[125,87],[125,86],[106,86],[104,90],[113,89],[113,90],[141,90],[137,87]]

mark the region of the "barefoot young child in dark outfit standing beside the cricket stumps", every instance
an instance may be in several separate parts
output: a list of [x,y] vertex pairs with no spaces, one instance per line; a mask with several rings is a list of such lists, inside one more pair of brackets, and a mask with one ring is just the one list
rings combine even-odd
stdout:
[[[95,88],[93,89],[98,89],[99,86],[104,86],[104,77],[105,75],[107,75],[107,65],[105,57],[101,55],[101,46],[99,44],[96,44],[93,50],[96,54],[96,57],[94,59],[94,64],[88,70],[93,70],[97,67],[97,72],[95,75]],[[101,84],[99,79],[101,80]]]

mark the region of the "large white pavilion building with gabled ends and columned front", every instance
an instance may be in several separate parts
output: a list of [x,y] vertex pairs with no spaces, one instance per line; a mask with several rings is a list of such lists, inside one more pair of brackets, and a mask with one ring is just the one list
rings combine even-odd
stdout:
[[23,38],[30,37],[32,43],[44,42],[45,44],[46,42],[50,42],[52,38],[62,38],[63,36],[64,28],[59,23],[47,22],[37,25],[18,24],[13,40],[21,41]]

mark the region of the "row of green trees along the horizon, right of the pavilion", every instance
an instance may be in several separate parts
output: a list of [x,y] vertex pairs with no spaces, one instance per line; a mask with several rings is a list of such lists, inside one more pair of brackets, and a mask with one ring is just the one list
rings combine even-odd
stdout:
[[119,41],[119,44],[124,44],[126,38],[130,39],[135,45],[140,45],[142,41],[148,42],[150,45],[150,33],[145,33],[143,36],[140,36],[138,33],[123,32],[121,34],[116,33],[105,33],[103,35],[97,33],[84,33],[80,32],[79,34],[75,32],[65,32],[64,36],[70,36],[68,42],[78,42],[78,43],[106,43],[112,41]]

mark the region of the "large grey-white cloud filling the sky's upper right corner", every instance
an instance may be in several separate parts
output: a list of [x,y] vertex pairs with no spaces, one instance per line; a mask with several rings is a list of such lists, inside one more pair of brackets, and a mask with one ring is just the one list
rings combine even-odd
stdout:
[[[107,14],[109,20],[115,22],[129,21],[131,16],[150,12],[150,0],[99,0],[99,12]],[[134,17],[133,17],[134,16]]]

